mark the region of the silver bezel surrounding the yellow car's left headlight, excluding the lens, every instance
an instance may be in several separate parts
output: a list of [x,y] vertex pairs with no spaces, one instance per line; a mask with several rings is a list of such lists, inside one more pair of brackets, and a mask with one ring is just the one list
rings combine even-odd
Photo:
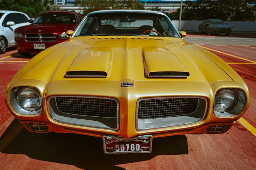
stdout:
[[[38,107],[36,107],[35,109],[25,109],[26,107],[22,107],[20,105],[20,103],[17,100],[17,95],[18,92],[24,90],[24,89],[31,89],[34,90],[38,93],[38,96],[40,98],[40,105]],[[41,97],[41,92],[39,89],[35,88],[35,87],[28,87],[28,86],[24,86],[24,87],[15,87],[13,89],[11,89],[10,91],[10,105],[12,107],[12,109],[18,114],[18,115],[26,115],[26,116],[37,116],[40,115],[42,112],[42,97]],[[15,114],[16,114],[15,113]]]

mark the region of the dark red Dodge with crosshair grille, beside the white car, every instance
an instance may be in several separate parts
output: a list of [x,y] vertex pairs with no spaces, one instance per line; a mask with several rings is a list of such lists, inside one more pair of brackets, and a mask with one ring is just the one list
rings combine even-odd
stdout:
[[70,37],[66,31],[75,31],[82,21],[80,14],[73,12],[45,12],[39,14],[31,25],[15,30],[15,43],[18,53],[23,56],[66,41]]

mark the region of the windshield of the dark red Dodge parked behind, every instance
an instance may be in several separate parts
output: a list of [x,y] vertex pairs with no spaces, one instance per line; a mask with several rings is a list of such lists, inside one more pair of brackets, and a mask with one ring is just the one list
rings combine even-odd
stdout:
[[76,24],[76,19],[74,14],[46,13],[40,14],[37,18],[35,18],[33,23]]

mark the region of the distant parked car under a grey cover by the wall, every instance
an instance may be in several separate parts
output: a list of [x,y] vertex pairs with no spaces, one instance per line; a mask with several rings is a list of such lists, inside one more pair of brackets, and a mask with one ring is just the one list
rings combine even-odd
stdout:
[[220,19],[207,19],[199,24],[198,30],[200,33],[207,33],[208,35],[229,35],[232,29]]

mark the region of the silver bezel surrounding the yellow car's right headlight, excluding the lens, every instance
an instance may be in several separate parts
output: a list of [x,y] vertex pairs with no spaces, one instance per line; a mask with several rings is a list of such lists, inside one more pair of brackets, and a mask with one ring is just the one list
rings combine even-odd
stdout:
[[[234,91],[236,93],[237,101],[232,108],[227,109],[224,112],[219,112],[217,109],[215,109],[216,96],[218,95],[218,92],[226,90],[226,89]],[[247,102],[247,98],[246,98],[246,94],[245,94],[244,90],[239,89],[239,88],[221,88],[216,91],[215,96],[214,96],[213,113],[215,116],[222,117],[222,118],[237,117],[241,113],[243,113],[244,108],[247,104],[246,102]]]

